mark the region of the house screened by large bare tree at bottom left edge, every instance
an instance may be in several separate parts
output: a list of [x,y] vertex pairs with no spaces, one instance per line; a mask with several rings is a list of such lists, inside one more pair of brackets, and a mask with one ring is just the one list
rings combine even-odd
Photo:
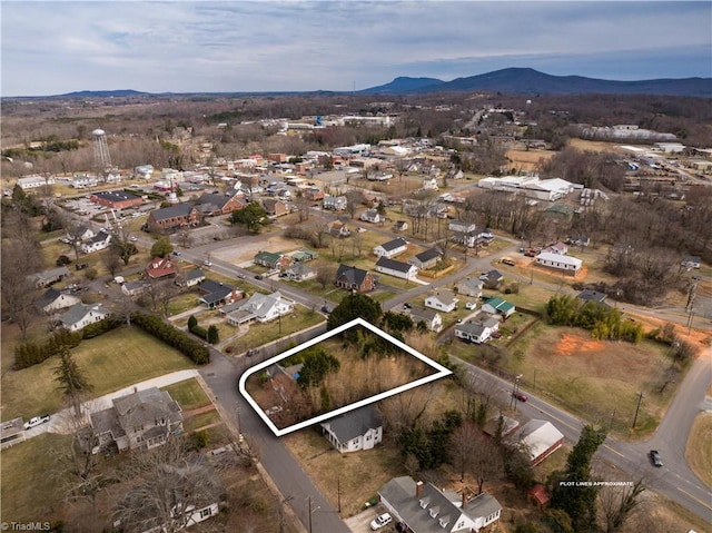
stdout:
[[[147,492],[161,494],[161,499],[146,499]],[[192,454],[177,463],[160,464],[141,487],[129,490],[113,513],[112,531],[182,531],[218,515],[226,506],[227,492],[215,468],[206,455]]]

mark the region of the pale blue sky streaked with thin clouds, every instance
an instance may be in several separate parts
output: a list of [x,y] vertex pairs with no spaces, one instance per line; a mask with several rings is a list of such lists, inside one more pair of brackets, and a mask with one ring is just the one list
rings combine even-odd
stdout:
[[709,1],[8,1],[0,95],[350,91],[508,67],[712,77]]

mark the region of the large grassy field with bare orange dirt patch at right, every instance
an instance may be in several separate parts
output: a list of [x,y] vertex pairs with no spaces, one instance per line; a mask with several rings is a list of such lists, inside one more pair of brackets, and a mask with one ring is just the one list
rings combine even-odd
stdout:
[[[587,422],[612,423],[622,438],[649,435],[674,394],[674,386],[660,394],[670,366],[664,347],[645,340],[594,340],[583,329],[538,324],[508,349],[453,342],[451,353],[473,363],[486,356],[497,368],[522,374],[524,392],[542,395]],[[632,431],[641,391],[644,399]]]

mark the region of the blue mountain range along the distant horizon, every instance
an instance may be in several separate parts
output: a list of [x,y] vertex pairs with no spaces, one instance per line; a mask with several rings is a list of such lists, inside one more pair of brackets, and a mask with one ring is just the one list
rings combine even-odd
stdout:
[[[507,68],[467,78],[443,81],[437,78],[398,77],[386,85],[358,91],[362,95],[408,95],[428,92],[504,92],[510,95],[660,95],[712,97],[712,78],[661,78],[637,81],[604,80],[584,76],[552,76],[531,68]],[[225,91],[202,95],[338,95],[338,91],[240,92]],[[169,93],[164,93],[169,95]],[[108,98],[151,96],[136,90],[77,91],[56,98]]]

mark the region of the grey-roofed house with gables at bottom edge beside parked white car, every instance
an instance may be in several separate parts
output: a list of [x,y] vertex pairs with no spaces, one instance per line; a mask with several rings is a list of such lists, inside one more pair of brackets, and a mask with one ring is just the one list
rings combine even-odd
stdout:
[[394,477],[378,490],[380,503],[394,522],[412,533],[472,533],[500,520],[502,505],[491,494],[467,500],[454,491],[411,476]]

